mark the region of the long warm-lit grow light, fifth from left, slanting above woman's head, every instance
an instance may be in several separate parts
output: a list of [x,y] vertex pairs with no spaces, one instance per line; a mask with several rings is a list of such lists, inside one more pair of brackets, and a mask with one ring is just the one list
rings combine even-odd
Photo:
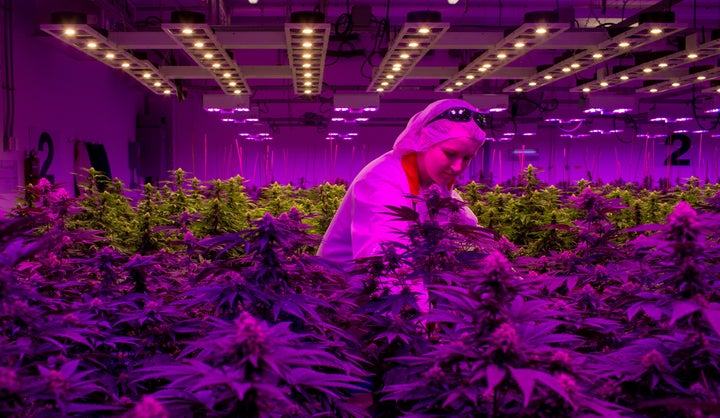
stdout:
[[[526,15],[526,20],[528,16]],[[555,19],[557,20],[557,19]],[[435,91],[459,92],[472,86],[567,30],[567,23],[526,22],[440,84]]]

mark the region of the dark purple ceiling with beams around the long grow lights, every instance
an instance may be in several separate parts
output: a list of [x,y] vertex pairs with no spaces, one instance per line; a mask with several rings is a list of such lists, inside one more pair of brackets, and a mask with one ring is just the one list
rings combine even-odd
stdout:
[[[63,10],[62,3],[38,1],[38,7],[47,14]],[[338,94],[379,94],[381,110],[386,103],[427,103],[434,98],[476,94],[507,95],[510,103],[519,99],[542,108],[548,101],[577,104],[592,95],[633,95],[646,103],[688,102],[700,94],[717,95],[713,79],[720,79],[720,72],[710,69],[717,67],[720,58],[720,40],[713,39],[720,38],[720,32],[713,32],[720,28],[717,0],[459,0],[454,5],[444,0],[258,0],[256,4],[248,0],[68,0],[64,6],[65,10],[74,7],[87,13],[88,22],[107,29],[108,39],[118,47],[141,52],[173,84],[172,94],[180,100],[193,94],[232,95],[234,91],[234,87],[222,85],[220,76],[208,75],[211,70],[202,68],[192,51],[171,39],[168,24],[177,16],[176,12],[202,14],[209,36],[218,42],[220,50],[228,52],[231,65],[237,66],[239,85],[247,88],[243,95],[250,92],[251,102],[261,103],[268,117],[272,114],[278,121],[290,114],[297,117],[297,112],[287,110],[290,103],[319,106],[310,113],[322,119],[331,108],[333,96]],[[668,11],[674,14],[671,21],[662,14]],[[308,12],[324,18],[327,25],[320,25],[325,33],[319,63],[321,76],[313,91],[305,94],[298,84],[302,80],[295,80],[298,72],[289,58],[291,32],[286,24]],[[386,91],[378,93],[379,77],[384,77],[380,67],[391,64],[388,59],[383,60],[384,56],[402,44],[399,40],[407,31],[406,22],[411,15],[421,19],[437,16],[427,12],[439,13],[440,22],[436,23],[442,28],[427,52],[420,54]],[[528,42],[534,47],[515,53],[512,60],[506,60],[510,62],[490,61],[494,65],[492,71],[480,76],[476,70],[485,59],[502,52],[502,43],[513,36],[513,30],[532,23],[528,13],[537,15],[535,12],[556,12],[559,32],[548,39]],[[540,15],[547,17],[548,13]],[[639,20],[648,19],[664,21],[665,34],[670,35],[631,34]],[[417,25],[411,25],[410,31],[416,30]],[[618,42],[625,40],[624,34],[630,34],[632,45],[612,52]],[[561,68],[563,63],[569,65],[602,45],[609,45],[601,51],[605,58],[561,72],[565,71]],[[695,60],[683,58],[696,45],[707,48]],[[664,57],[675,57],[674,68],[641,71],[643,65],[659,64]],[[299,59],[294,62],[299,65]],[[556,67],[555,72],[552,67]],[[707,73],[702,82],[691,80],[698,71]],[[620,80],[625,73],[631,77]],[[469,81],[466,78],[469,74],[478,77]],[[551,79],[546,80],[543,75],[550,75]],[[529,86],[534,77],[537,86]],[[612,83],[601,87],[599,83],[605,79]],[[683,81],[676,88],[669,85],[673,80]],[[653,94],[648,89],[655,82],[664,87]],[[592,86],[592,90],[583,92],[583,85]],[[306,113],[301,117],[307,118]],[[393,123],[394,118],[406,120],[406,115],[378,113],[373,120]]]

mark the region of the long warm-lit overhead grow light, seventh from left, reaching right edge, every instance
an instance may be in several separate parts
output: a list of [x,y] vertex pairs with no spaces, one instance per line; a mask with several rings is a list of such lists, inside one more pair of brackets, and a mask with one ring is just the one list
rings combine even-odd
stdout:
[[[661,75],[667,78],[673,78],[675,74],[671,74],[668,70],[687,65],[692,62],[699,62],[705,58],[711,58],[720,55],[720,30],[713,31],[713,38],[710,42],[696,45],[697,34],[693,33],[685,38],[685,49],[674,52],[642,64],[626,68],[622,71],[606,75],[602,78],[580,84],[570,89],[572,92],[592,92],[627,83],[632,80],[642,79],[648,74],[655,74],[662,71]],[[648,69],[650,71],[648,71]],[[671,84],[675,80],[671,80]]]

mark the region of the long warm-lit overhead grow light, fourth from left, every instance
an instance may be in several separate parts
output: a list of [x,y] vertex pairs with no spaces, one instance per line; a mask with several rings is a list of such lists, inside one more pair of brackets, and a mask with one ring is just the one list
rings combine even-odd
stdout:
[[369,93],[391,92],[450,27],[446,22],[406,22],[375,68]]

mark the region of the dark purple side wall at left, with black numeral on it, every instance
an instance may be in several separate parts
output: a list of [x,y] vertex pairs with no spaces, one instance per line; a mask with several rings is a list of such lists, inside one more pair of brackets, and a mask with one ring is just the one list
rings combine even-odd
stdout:
[[[145,88],[129,76],[59,43],[37,28],[33,1],[13,1],[13,51],[15,74],[15,152],[3,152],[6,164],[37,150],[40,165],[55,182],[73,190],[75,141],[103,144],[113,177],[130,182],[128,142],[134,140],[135,117],[143,105]],[[4,97],[4,96],[3,96]],[[0,104],[2,114],[5,102]],[[2,122],[0,122],[2,123]],[[50,134],[48,147],[38,149],[39,137]],[[18,161],[19,160],[19,161]],[[20,186],[23,181],[19,179]],[[3,182],[0,210],[14,205],[12,182]]]

